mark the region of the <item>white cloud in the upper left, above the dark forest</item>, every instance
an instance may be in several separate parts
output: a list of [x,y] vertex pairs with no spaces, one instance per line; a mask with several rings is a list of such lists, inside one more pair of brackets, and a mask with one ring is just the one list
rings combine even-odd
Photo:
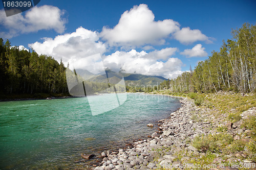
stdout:
[[6,31],[0,37],[12,38],[19,34],[53,29],[57,33],[65,31],[67,20],[63,18],[65,11],[57,7],[44,5],[33,7],[23,16],[22,13],[6,17],[4,9],[0,10],[0,24]]

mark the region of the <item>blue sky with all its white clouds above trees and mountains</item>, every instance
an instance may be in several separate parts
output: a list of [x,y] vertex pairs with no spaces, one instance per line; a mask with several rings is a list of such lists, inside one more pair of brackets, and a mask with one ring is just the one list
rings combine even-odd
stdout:
[[[175,78],[256,23],[256,1],[48,1],[6,17],[0,37],[57,61]],[[103,29],[104,28],[104,29]]]

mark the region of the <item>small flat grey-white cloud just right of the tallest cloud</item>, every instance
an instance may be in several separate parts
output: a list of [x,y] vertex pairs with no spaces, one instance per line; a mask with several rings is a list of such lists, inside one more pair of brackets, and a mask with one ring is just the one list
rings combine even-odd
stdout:
[[202,34],[200,30],[190,30],[189,27],[182,28],[181,30],[174,33],[174,38],[183,44],[191,44],[196,41],[205,41],[211,43],[209,37]]

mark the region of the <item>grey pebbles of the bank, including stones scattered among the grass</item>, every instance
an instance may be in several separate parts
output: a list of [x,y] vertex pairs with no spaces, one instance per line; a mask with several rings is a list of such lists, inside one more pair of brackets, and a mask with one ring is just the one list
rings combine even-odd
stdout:
[[[177,156],[175,153],[180,153],[182,150],[187,150],[189,153],[199,156],[200,158],[205,156],[205,153],[199,153],[193,145],[190,145],[187,140],[193,139],[199,134],[212,134],[216,133],[214,130],[209,128],[212,125],[218,127],[220,120],[219,117],[211,116],[208,118],[206,111],[208,109],[201,109],[194,106],[194,102],[189,99],[184,99],[180,101],[183,103],[183,106],[170,114],[170,117],[167,119],[159,120],[161,126],[158,130],[161,130],[163,133],[154,132],[151,138],[140,139],[139,141],[134,142],[134,148],[131,149],[120,149],[118,152],[105,151],[101,153],[103,157],[102,166],[95,167],[95,170],[109,170],[109,169],[155,169],[157,165],[167,165],[172,164],[172,166],[177,166],[183,162],[187,162],[191,159],[198,159],[196,157],[190,158],[187,156],[182,157],[177,161]],[[193,115],[197,112],[198,119],[201,121],[193,120]],[[200,114],[199,114],[200,113]],[[216,120],[216,121],[214,121]],[[211,125],[212,124],[212,125]],[[224,124],[224,123],[223,123]],[[153,127],[153,124],[148,124],[148,127]],[[238,126],[233,126],[232,123],[226,122],[226,127],[230,130],[239,130]],[[243,133],[244,131],[241,131]],[[249,130],[244,132],[245,134],[251,133]],[[240,140],[240,137],[234,136],[234,140]],[[155,149],[169,147],[172,148],[170,151],[165,151],[165,155],[159,157],[158,160],[154,159],[153,152]],[[236,154],[235,154],[236,155]],[[235,156],[234,155],[234,156]],[[237,154],[238,158],[229,157],[227,161],[233,162],[238,161],[238,158],[246,157],[242,152]],[[154,161],[154,162],[153,162]],[[224,160],[221,157],[218,157],[214,162],[223,162]],[[243,160],[245,163],[249,163],[248,160]]]

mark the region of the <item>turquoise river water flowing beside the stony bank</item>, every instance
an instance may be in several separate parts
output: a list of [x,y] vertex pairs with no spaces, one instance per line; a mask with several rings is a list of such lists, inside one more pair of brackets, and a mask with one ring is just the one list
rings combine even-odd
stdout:
[[[101,102],[104,98],[93,96]],[[157,124],[177,110],[177,98],[124,93],[127,100],[92,115],[87,98],[0,102],[0,169],[69,169],[84,166],[81,153],[118,150],[147,138]],[[99,108],[100,109],[100,108]]]

